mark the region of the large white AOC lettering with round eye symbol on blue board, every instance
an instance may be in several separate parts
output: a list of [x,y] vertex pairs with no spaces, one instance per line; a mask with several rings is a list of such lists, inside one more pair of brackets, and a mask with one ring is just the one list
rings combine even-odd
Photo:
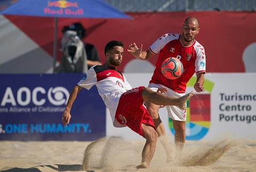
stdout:
[[69,92],[64,87],[50,87],[47,91],[43,87],[35,87],[31,90],[28,87],[20,87],[17,92],[11,87],[7,87],[1,100],[1,107],[5,105],[25,107],[31,102],[34,105],[44,105],[46,100],[55,106],[66,104]]

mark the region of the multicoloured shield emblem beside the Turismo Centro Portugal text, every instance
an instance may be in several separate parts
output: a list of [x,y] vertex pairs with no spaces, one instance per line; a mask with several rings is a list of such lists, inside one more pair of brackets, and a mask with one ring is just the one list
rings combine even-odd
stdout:
[[[187,87],[193,87],[196,77],[192,77]],[[194,94],[187,102],[186,140],[201,140],[209,131],[211,124],[211,92],[214,83],[205,79],[203,94]],[[208,92],[208,93],[207,93]],[[169,127],[175,134],[172,119],[169,118]]]

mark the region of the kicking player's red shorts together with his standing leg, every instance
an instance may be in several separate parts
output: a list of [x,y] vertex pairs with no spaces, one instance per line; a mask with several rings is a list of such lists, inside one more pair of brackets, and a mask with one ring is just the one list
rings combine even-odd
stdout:
[[119,99],[115,119],[126,125],[135,133],[146,138],[142,151],[141,164],[137,168],[148,168],[156,149],[157,133],[154,121],[143,106],[142,91],[144,87],[133,88],[122,94]]

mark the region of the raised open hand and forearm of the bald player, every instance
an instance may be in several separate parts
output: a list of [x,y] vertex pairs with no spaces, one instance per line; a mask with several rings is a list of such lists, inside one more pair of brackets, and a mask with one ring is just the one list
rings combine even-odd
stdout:
[[133,43],[129,45],[129,49],[127,50],[130,52],[135,58],[140,59],[140,60],[148,60],[154,56],[154,54],[151,51],[142,51],[142,45],[140,48]]

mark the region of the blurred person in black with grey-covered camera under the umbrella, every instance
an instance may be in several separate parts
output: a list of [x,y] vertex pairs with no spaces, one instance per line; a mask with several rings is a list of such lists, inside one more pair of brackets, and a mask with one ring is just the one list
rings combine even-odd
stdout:
[[86,31],[81,23],[63,27],[62,33],[58,72],[86,72],[93,65],[101,64],[95,46],[83,41]]

